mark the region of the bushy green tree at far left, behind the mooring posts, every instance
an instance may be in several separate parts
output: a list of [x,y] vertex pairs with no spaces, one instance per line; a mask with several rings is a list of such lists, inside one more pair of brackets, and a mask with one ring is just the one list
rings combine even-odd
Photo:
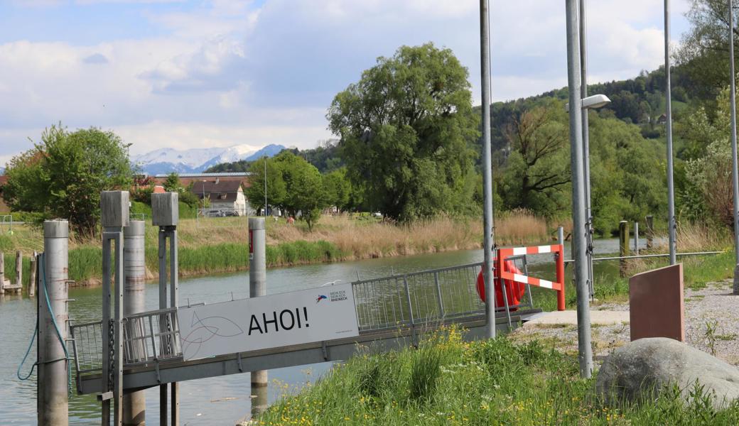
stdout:
[[69,219],[77,233],[94,234],[100,217],[100,193],[128,189],[132,167],[128,145],[112,131],[70,132],[51,126],[41,142],[10,160],[3,197],[13,210]]

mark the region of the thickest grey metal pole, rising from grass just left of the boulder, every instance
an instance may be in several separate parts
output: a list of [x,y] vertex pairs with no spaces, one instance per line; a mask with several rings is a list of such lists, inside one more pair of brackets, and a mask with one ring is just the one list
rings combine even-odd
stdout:
[[580,375],[589,378],[593,371],[590,348],[590,305],[588,303],[588,224],[585,219],[585,188],[582,182],[582,95],[580,95],[580,55],[577,0],[565,0],[567,15],[567,64],[570,89],[570,145],[572,168],[572,221],[574,277],[577,289],[577,343]]

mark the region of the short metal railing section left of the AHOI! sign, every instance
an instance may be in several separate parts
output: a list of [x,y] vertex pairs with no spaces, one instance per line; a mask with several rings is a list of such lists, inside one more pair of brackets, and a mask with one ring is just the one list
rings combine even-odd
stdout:
[[[75,368],[80,374],[103,368],[103,322],[70,326]],[[123,365],[182,357],[177,309],[159,309],[123,318]]]

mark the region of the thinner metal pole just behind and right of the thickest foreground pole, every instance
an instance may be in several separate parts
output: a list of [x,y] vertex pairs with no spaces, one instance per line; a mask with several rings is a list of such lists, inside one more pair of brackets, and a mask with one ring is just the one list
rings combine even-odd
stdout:
[[[580,87],[582,98],[588,97],[588,19],[585,1],[580,0]],[[593,298],[593,211],[590,208],[590,126],[588,109],[582,109],[582,164],[585,171],[585,220],[588,227],[588,292]]]

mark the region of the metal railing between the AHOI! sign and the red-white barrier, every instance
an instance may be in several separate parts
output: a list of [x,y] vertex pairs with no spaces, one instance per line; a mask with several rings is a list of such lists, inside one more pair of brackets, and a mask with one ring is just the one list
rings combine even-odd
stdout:
[[[525,255],[510,260],[524,273],[528,272]],[[485,313],[485,305],[475,288],[482,266],[482,263],[466,264],[353,282],[359,330],[414,326]],[[508,306],[509,309],[533,308],[528,285],[527,290],[528,300]],[[504,312],[505,307],[496,310]]]

